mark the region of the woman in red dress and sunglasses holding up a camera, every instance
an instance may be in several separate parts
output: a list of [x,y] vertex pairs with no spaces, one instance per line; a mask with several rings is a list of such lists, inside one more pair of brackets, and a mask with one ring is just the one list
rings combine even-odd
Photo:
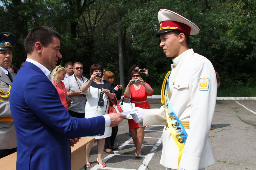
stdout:
[[[148,104],[148,95],[152,95],[154,90],[148,83],[143,81],[139,70],[133,70],[131,78],[132,79],[129,81],[125,89],[124,97],[131,98],[131,102],[135,103],[135,107],[150,109]],[[132,140],[136,148],[136,152],[133,152],[132,155],[140,157],[140,149],[144,140],[144,130],[146,126],[140,127],[140,125],[135,123],[134,120],[128,120],[128,123],[132,134]]]

